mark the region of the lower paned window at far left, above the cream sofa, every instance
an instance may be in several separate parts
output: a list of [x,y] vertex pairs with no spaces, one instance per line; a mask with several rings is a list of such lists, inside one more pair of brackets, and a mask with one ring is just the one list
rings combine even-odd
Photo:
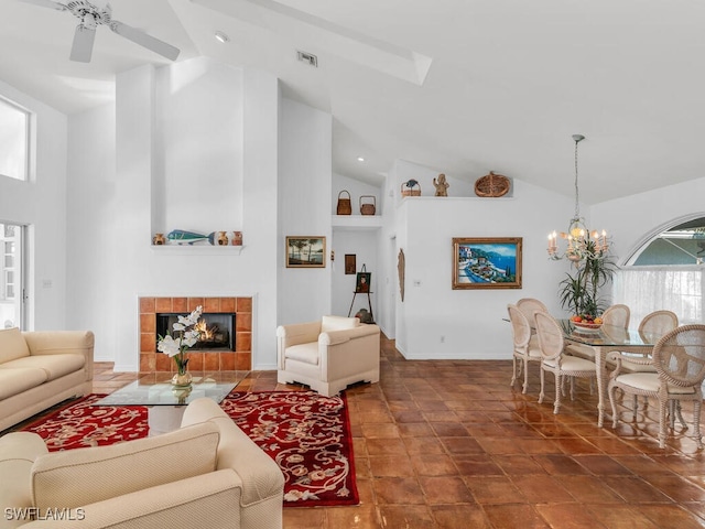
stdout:
[[23,328],[22,226],[0,224],[0,328]]

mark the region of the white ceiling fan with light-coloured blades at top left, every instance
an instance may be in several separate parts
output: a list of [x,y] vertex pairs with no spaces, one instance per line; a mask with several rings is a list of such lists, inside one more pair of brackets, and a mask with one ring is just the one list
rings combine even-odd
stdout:
[[66,2],[53,2],[52,0],[20,0],[21,2],[41,6],[43,8],[55,9],[56,11],[68,11],[80,23],[76,26],[74,44],[70,48],[70,60],[79,63],[89,63],[93,54],[93,44],[96,39],[96,28],[107,25],[113,33],[123,36],[140,46],[147,47],[154,53],[175,61],[180,50],[159,39],[148,35],[143,31],[123,24],[112,19],[112,8],[107,1],[94,0],[90,3],[86,0],[73,0]]

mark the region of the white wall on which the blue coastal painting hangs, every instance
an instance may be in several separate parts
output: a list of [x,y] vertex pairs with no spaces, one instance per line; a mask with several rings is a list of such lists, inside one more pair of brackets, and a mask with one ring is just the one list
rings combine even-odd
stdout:
[[[427,181],[433,173],[426,171],[405,162],[394,179]],[[567,264],[547,259],[546,235],[570,219],[570,198],[514,181],[511,198],[400,202],[395,240],[404,249],[406,273],[404,302],[397,305],[397,347],[406,358],[508,358],[508,303],[538,298],[553,313],[563,312],[557,284]],[[522,237],[522,289],[452,290],[454,237]]]

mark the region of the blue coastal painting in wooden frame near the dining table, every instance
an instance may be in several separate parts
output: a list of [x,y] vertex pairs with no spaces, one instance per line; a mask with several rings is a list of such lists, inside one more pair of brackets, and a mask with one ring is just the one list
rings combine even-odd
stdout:
[[453,290],[521,289],[521,237],[453,238]]

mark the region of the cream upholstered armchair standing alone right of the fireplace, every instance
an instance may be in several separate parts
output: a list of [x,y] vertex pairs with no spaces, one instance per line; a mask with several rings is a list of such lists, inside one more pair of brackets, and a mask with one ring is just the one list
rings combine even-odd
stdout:
[[357,317],[280,325],[276,379],[308,385],[326,397],[354,382],[378,382],[379,333],[377,325],[360,324]]

